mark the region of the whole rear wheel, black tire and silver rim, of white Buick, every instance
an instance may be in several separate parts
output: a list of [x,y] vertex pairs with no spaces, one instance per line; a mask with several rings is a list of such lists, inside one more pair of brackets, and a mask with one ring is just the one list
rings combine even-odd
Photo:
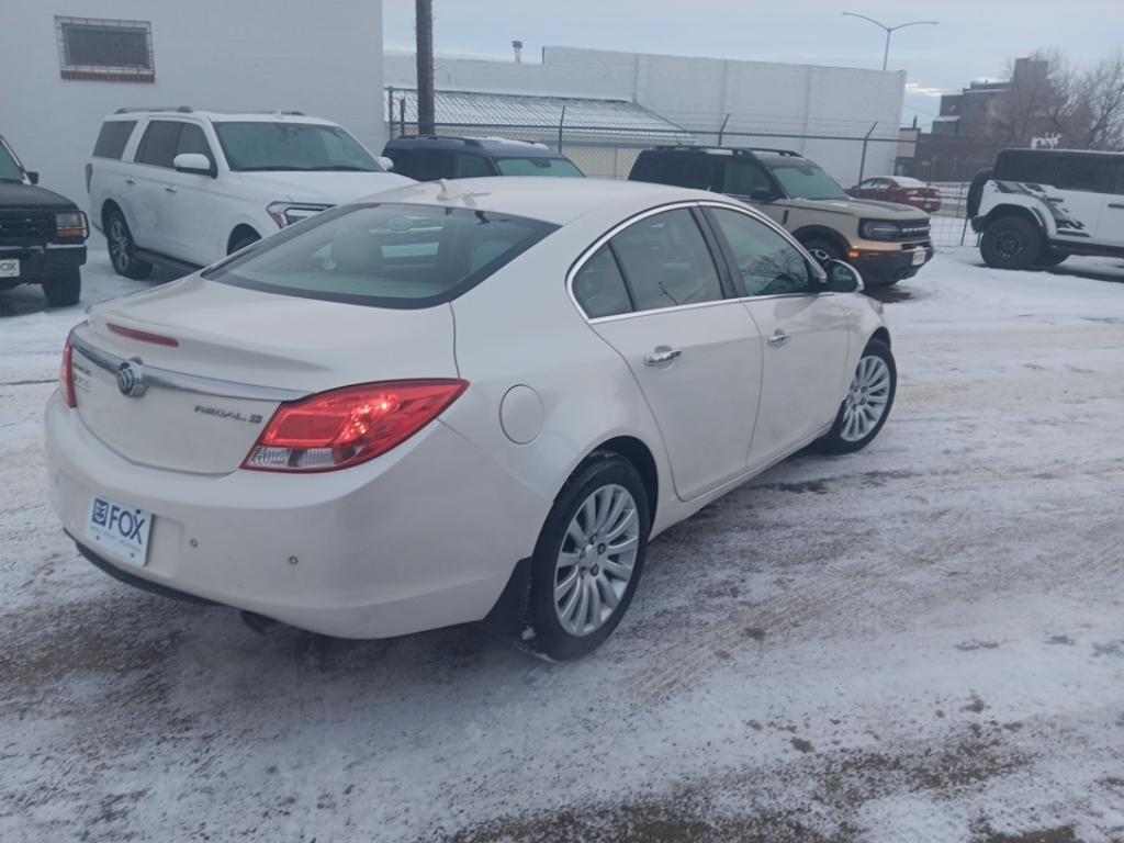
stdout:
[[520,646],[549,661],[600,646],[632,602],[650,528],[647,492],[633,464],[611,452],[583,462],[535,544]]

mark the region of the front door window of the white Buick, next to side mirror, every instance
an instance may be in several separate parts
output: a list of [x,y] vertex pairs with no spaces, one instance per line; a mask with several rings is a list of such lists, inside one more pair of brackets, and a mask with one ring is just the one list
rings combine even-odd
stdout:
[[719,208],[708,212],[729,244],[746,296],[810,291],[808,262],[796,246],[745,214]]

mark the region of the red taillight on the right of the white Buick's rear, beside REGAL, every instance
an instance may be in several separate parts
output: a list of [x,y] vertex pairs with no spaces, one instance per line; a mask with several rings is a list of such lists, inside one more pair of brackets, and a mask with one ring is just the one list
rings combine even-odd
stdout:
[[373,460],[437,418],[468,387],[461,380],[388,381],[282,404],[242,468],[334,471]]

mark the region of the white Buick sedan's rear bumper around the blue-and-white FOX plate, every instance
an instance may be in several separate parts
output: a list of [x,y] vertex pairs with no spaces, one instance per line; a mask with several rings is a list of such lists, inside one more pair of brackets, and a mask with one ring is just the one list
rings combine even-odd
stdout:
[[[483,618],[550,507],[442,423],[339,472],[192,475],[128,462],[57,395],[45,420],[52,506],[94,564],[326,635]],[[146,564],[87,537],[94,495],[153,514]]]

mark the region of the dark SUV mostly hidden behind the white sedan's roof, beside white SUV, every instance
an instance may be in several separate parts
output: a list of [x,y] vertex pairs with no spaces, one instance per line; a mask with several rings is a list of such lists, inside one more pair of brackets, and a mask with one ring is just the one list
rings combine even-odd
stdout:
[[570,158],[545,144],[502,137],[404,135],[391,138],[382,154],[395,162],[396,173],[418,181],[480,175],[583,175]]

